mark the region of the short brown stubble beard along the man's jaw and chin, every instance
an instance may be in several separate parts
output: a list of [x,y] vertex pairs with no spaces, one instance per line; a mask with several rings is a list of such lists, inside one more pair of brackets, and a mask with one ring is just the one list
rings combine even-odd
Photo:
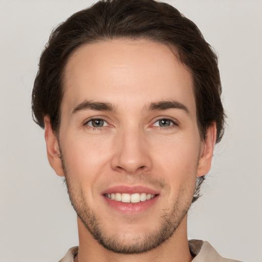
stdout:
[[[180,197],[173,202],[174,204],[171,208],[162,210],[163,213],[156,230],[147,234],[137,235],[131,239],[119,235],[120,233],[108,233],[99,215],[86,203],[82,190],[77,188],[74,182],[70,180],[70,172],[66,168],[62,155],[61,161],[69,198],[78,217],[99,244],[115,253],[139,254],[159,247],[176,232],[190,208],[193,192],[190,195],[191,198],[188,197],[188,192],[182,192]],[[187,190],[182,189],[182,191]],[[187,198],[185,198],[185,195],[187,195]],[[123,232],[121,233],[123,234]]]

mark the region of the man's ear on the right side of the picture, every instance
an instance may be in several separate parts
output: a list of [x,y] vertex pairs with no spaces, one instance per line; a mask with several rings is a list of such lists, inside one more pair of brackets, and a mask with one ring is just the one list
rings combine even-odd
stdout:
[[207,129],[206,139],[203,141],[201,154],[198,164],[197,176],[202,177],[207,174],[211,168],[213,150],[216,141],[216,124],[213,122]]

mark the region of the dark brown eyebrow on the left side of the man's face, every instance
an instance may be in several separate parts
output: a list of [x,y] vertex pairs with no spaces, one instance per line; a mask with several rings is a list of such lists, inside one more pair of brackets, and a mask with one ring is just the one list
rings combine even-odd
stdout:
[[72,115],[83,110],[114,112],[116,111],[116,107],[109,102],[92,102],[85,100],[74,108]]

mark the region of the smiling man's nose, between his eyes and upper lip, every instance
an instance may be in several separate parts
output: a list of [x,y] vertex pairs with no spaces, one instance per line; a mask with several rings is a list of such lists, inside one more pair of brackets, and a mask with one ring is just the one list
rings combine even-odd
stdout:
[[149,143],[142,130],[123,131],[114,143],[112,168],[119,172],[135,174],[151,169],[152,161],[149,154]]

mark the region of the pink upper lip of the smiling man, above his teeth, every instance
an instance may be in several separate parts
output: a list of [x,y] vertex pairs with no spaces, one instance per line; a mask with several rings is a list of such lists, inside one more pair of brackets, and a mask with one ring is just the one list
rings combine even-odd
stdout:
[[126,186],[126,185],[119,185],[119,186],[114,186],[105,189],[104,191],[101,192],[101,194],[111,194],[111,193],[127,193],[127,194],[135,194],[135,193],[147,193],[147,194],[159,194],[160,192],[146,187],[146,186]]

